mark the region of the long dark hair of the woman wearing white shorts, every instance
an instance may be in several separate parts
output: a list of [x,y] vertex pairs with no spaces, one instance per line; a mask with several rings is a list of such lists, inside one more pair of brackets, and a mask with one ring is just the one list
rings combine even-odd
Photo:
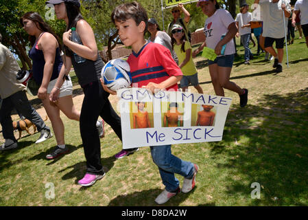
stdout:
[[[43,20],[43,18],[38,14],[38,12],[27,12],[23,14],[23,16],[19,19],[19,22],[23,26],[23,19],[31,20],[35,23],[36,28],[41,30],[42,32],[49,32],[50,34],[54,35],[56,40],[58,41],[59,47],[61,46],[60,39],[57,34],[50,28],[50,26]],[[36,36],[29,36],[29,41],[33,46],[36,41]]]

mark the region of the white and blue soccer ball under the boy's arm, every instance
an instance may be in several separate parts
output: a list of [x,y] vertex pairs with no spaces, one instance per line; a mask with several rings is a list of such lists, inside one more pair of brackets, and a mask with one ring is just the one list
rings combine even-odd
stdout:
[[132,83],[130,65],[120,58],[108,61],[104,65],[101,75],[105,85],[112,91],[127,88]]

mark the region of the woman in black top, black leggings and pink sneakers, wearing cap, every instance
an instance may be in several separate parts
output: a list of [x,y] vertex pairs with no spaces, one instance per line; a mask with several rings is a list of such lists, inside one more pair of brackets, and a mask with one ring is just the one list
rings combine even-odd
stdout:
[[[81,186],[91,186],[97,179],[102,179],[105,173],[101,164],[101,151],[96,122],[99,115],[110,124],[121,140],[121,119],[112,109],[108,100],[108,93],[99,82],[104,63],[97,51],[95,36],[91,26],[80,14],[79,1],[50,0],[54,4],[56,16],[67,23],[67,32],[63,34],[63,43],[66,52],[67,69],[73,65],[78,83],[84,91],[84,100],[80,113],[80,134],[86,156],[86,174],[78,181]],[[71,28],[75,28],[80,36],[82,45],[70,41]],[[81,61],[78,61],[78,56]],[[55,87],[62,83],[61,77]],[[58,97],[58,90],[51,91],[51,101]]]

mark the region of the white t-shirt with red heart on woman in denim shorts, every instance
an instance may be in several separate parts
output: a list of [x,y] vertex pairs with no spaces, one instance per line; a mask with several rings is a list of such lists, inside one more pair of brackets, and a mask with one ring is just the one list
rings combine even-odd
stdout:
[[[217,43],[220,42],[222,35],[228,33],[228,26],[234,23],[231,14],[224,9],[217,9],[215,13],[206,19],[204,24],[204,34],[206,47],[215,50]],[[233,39],[226,43],[226,50],[224,55],[235,54],[235,47]]]

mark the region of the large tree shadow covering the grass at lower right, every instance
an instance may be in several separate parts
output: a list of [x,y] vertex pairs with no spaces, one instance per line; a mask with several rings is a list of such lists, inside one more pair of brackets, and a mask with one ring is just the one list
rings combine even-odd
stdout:
[[230,196],[250,197],[250,184],[257,182],[261,199],[251,199],[252,206],[307,206],[308,87],[284,96],[265,95],[258,102],[230,110],[229,129],[222,142],[210,144],[210,157],[227,158],[217,167],[228,173]]

